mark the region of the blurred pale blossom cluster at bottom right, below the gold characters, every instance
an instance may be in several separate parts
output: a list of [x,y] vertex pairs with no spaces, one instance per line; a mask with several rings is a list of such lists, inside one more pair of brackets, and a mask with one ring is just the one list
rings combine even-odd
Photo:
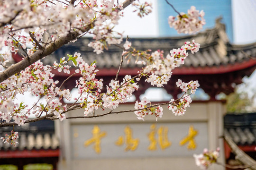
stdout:
[[195,158],[195,163],[201,170],[207,170],[208,167],[212,164],[217,162],[219,157],[219,148],[216,151],[208,151],[208,149],[204,149],[203,153],[197,155],[193,155]]

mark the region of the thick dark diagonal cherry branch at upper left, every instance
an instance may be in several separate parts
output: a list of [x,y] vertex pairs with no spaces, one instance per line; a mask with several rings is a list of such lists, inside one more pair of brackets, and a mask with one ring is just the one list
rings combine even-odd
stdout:
[[[135,0],[124,1],[123,8],[128,7],[128,5],[130,5],[133,1],[135,1]],[[91,25],[93,25],[93,24],[94,24],[94,22],[85,26],[83,28],[83,32],[89,31],[91,29]],[[64,37],[60,37],[55,42],[50,43],[49,45],[46,46],[46,48],[44,50],[39,49],[34,54],[30,55],[29,58],[23,59],[20,62],[10,66],[9,68],[7,68],[6,70],[4,70],[3,72],[0,73],[0,83],[3,82],[4,80],[6,80],[7,78],[9,78],[10,76],[13,76],[16,73],[20,72],[21,70],[24,70],[25,68],[27,68],[34,62],[38,61],[39,59],[42,59],[42,58],[50,55],[51,53],[53,53],[54,51],[56,51],[63,45],[74,40],[79,35],[81,35],[81,33],[79,33],[79,31],[71,32]]]

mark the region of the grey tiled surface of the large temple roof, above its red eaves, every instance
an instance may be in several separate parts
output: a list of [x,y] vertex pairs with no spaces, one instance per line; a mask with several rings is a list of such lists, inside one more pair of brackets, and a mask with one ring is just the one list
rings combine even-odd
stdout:
[[[249,61],[251,57],[256,56],[256,43],[231,45],[225,33],[225,26],[221,23],[217,23],[214,28],[207,29],[199,34],[181,37],[130,38],[129,42],[132,42],[132,46],[137,50],[163,50],[167,55],[173,48],[180,48],[184,42],[192,42],[193,39],[201,44],[200,51],[194,54],[190,53],[181,69],[226,67],[238,63],[243,64]],[[92,63],[96,60],[98,68],[119,67],[123,51],[121,48],[112,45],[109,47],[109,50],[105,50],[97,55],[91,47],[88,47],[88,43],[91,41],[93,40],[90,37],[82,37],[76,42],[58,49],[50,55],[51,57],[46,57],[43,62],[52,65],[55,60],[60,60],[61,57],[67,56],[66,54],[73,54],[79,51],[86,62]],[[128,64],[124,62],[123,68],[140,68],[140,66],[135,64],[135,60],[135,58],[131,58]],[[256,65],[256,61],[251,63],[251,65]],[[215,74],[218,70],[208,71],[207,74]],[[201,73],[205,74],[204,71],[201,71]]]

